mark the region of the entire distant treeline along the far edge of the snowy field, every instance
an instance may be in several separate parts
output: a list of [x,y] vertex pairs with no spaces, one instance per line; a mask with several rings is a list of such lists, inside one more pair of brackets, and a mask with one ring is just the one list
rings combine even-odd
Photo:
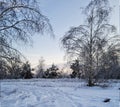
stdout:
[[[117,54],[104,55],[101,62],[94,70],[94,82],[99,79],[120,79],[120,63]],[[86,79],[86,66],[79,60],[70,64],[71,73],[64,73],[57,65],[52,64],[45,69],[44,59],[39,60],[36,68],[31,68],[30,63],[5,62],[0,60],[0,79],[31,79],[31,78],[81,78]],[[89,75],[89,74],[88,74]]]

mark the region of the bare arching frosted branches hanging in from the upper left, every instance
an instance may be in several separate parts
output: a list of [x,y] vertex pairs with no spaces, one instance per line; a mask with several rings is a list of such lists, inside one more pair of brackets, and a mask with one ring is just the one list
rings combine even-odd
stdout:
[[35,32],[52,31],[46,16],[42,15],[36,0],[1,0],[0,1],[0,57],[11,59],[6,55],[13,42],[30,41]]

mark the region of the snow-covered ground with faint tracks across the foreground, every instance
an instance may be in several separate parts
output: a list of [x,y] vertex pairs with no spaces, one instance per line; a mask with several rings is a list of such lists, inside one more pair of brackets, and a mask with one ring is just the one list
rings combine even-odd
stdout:
[[120,107],[119,82],[102,88],[77,79],[1,80],[0,107]]

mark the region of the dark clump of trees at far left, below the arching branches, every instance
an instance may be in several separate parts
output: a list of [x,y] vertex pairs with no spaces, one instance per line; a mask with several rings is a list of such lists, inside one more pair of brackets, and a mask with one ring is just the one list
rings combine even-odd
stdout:
[[30,79],[33,77],[32,69],[28,62],[26,63],[8,63],[0,60],[0,79]]

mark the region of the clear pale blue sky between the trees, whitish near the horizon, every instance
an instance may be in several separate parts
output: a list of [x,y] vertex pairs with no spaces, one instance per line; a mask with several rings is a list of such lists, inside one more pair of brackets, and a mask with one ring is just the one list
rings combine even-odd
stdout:
[[[21,46],[19,50],[33,67],[38,64],[41,57],[44,58],[47,65],[66,63],[65,51],[62,49],[60,39],[70,27],[84,23],[81,9],[89,3],[89,0],[39,0],[39,2],[42,14],[50,20],[55,38],[48,33],[36,34],[32,37],[32,46]],[[111,23],[118,27],[119,0],[110,0],[110,3],[114,7]]]

